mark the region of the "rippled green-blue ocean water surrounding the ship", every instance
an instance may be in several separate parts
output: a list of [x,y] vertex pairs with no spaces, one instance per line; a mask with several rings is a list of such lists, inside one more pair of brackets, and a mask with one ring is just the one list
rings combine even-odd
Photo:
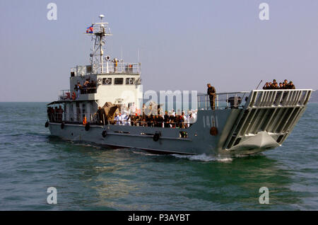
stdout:
[[241,158],[65,142],[44,127],[46,103],[0,103],[0,210],[317,210],[317,100],[283,146]]

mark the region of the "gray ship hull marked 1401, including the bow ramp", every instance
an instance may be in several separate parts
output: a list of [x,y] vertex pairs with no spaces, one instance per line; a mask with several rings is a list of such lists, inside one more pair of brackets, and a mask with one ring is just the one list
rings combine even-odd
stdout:
[[[256,154],[281,146],[305,111],[311,90],[290,90],[288,93],[295,98],[286,97],[286,101],[282,97],[278,101],[278,93],[252,91],[240,109],[199,110],[196,122],[186,129],[90,125],[86,130],[83,125],[68,123],[62,129],[61,123],[49,122],[49,130],[52,135],[71,141],[164,154]],[[187,137],[182,137],[181,132],[186,132]],[[158,140],[155,134],[159,134]]]

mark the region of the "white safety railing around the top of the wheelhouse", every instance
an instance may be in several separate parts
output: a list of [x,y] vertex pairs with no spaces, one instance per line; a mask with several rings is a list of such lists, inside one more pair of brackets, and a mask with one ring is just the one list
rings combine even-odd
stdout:
[[71,76],[86,76],[88,74],[140,74],[140,63],[105,62],[92,66],[76,66],[71,68]]

